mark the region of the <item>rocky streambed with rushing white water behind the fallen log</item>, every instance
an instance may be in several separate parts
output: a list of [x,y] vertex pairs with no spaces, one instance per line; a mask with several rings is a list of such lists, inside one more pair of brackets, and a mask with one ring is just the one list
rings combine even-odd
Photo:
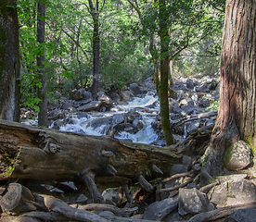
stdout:
[[[214,124],[216,117],[204,115],[218,103],[219,79],[216,77],[179,78],[173,84],[170,117],[175,142],[189,132]],[[141,84],[132,83],[124,91],[97,93],[96,101],[85,89],[64,97],[57,93],[55,103],[48,105],[50,128],[91,135],[109,135],[133,142],[164,145],[160,126],[160,105],[152,78]],[[22,121],[36,124],[30,111]],[[151,138],[148,140],[148,138]],[[147,140],[146,140],[147,139]]]

